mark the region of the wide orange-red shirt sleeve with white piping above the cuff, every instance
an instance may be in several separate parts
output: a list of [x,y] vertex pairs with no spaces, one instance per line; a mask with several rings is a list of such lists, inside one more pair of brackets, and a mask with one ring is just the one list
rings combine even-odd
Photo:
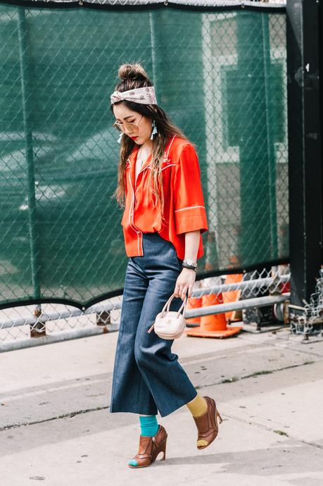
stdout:
[[179,153],[173,182],[176,234],[208,231],[198,156],[193,145]]

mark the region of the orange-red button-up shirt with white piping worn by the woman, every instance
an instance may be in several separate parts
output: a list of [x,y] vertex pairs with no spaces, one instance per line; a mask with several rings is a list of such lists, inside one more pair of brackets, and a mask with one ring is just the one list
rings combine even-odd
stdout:
[[[148,185],[152,154],[139,170],[135,180],[138,146],[130,154],[125,168],[125,211],[121,224],[127,256],[143,256],[142,234],[158,232],[172,242],[178,258],[185,256],[185,233],[208,230],[198,156],[193,145],[174,135],[165,147],[162,163],[164,189],[164,218],[161,221],[160,203]],[[165,223],[166,222],[166,223]],[[203,256],[200,235],[196,259]]]

